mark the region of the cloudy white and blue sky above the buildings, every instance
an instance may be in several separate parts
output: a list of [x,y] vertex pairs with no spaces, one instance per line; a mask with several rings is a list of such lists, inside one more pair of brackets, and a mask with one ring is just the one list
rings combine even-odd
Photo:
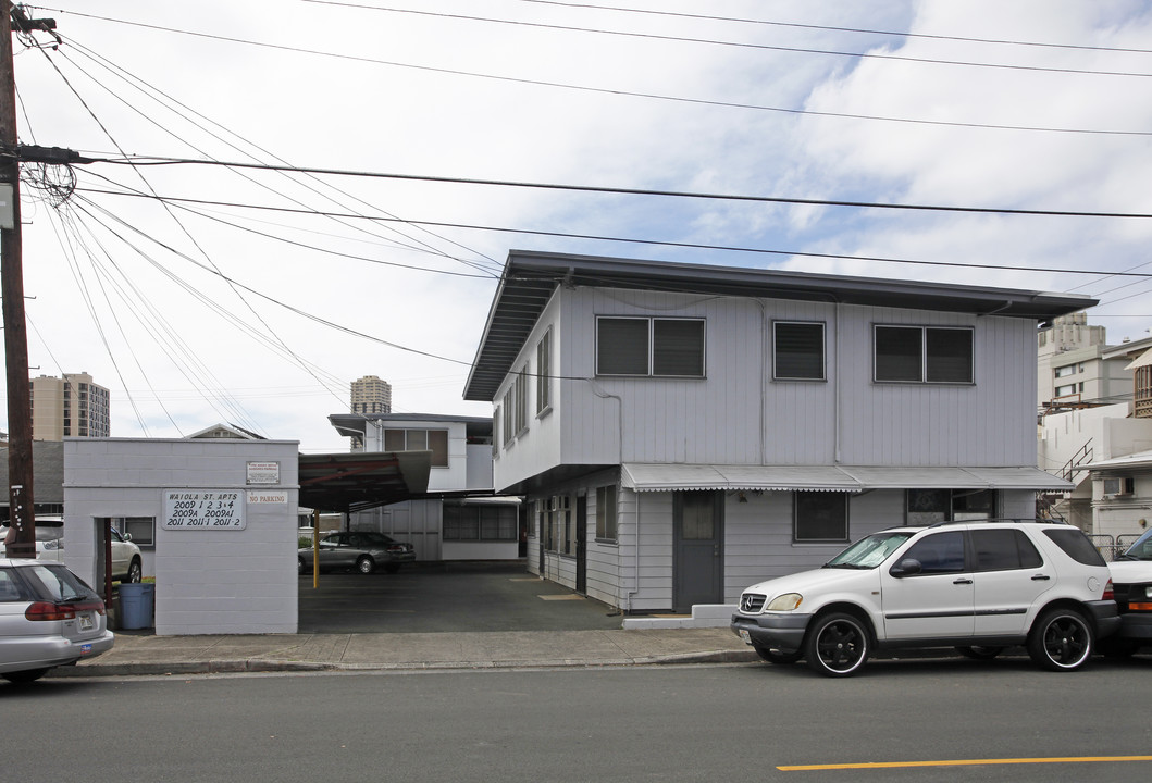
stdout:
[[31,374],[91,373],[115,436],[342,451],[326,417],[369,374],[397,412],[490,415],[462,390],[513,248],[1087,294],[1109,342],[1152,327],[1149,1],[29,10],[60,41],[14,39],[20,139],[94,160],[23,175]]

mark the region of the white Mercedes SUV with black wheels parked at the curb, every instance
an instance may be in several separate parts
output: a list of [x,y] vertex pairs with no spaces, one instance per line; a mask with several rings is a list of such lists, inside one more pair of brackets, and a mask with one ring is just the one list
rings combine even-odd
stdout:
[[854,675],[873,649],[956,647],[994,657],[1024,645],[1070,671],[1120,626],[1108,565],[1071,525],[940,523],[864,538],[823,568],[752,585],[732,630],[772,663]]

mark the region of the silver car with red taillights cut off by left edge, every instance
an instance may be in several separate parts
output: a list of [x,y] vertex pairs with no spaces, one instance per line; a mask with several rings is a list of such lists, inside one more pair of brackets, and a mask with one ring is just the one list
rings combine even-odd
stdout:
[[0,677],[30,683],[114,641],[104,601],[62,563],[0,558]]

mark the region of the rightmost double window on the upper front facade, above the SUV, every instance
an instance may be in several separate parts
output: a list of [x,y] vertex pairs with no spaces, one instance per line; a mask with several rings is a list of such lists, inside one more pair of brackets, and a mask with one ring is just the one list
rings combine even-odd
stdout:
[[972,329],[877,326],[876,380],[909,383],[971,383]]

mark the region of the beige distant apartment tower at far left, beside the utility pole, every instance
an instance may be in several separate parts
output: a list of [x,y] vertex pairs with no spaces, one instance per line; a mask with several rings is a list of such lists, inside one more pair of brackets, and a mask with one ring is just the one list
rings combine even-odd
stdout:
[[31,381],[32,440],[109,438],[109,396],[88,373],[63,378],[40,375]]

